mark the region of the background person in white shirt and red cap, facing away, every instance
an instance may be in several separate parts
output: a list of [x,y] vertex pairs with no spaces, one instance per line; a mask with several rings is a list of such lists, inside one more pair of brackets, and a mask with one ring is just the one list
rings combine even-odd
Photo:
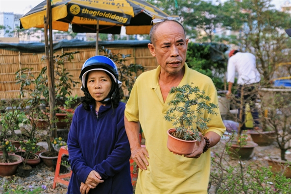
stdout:
[[[254,128],[260,128],[259,113],[256,109],[255,102],[258,96],[258,86],[261,81],[260,73],[256,68],[256,57],[249,52],[239,52],[231,50],[227,63],[227,82],[228,91],[226,96],[230,97],[232,85],[235,80],[235,73],[238,73],[238,96],[239,99],[243,96],[244,103],[249,103],[252,117],[254,119]],[[243,94],[242,94],[243,92]],[[245,130],[244,125],[244,108],[242,105],[242,130]],[[239,109],[239,111],[241,111]]]

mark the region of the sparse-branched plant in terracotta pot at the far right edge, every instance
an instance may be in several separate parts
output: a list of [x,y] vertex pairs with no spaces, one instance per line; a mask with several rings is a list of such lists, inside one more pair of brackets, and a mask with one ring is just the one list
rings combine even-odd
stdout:
[[275,141],[281,150],[279,158],[268,159],[272,171],[283,172],[287,178],[291,178],[291,163],[286,159],[286,151],[291,149],[291,94],[281,92],[271,98],[267,106],[267,125],[275,131]]

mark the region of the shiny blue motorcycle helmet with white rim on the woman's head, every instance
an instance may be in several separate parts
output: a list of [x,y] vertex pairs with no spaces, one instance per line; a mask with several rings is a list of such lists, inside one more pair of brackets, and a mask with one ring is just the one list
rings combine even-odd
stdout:
[[[93,56],[85,61],[83,64],[81,73],[80,73],[80,80],[82,81],[82,87],[81,89],[88,92],[87,84],[86,84],[86,75],[91,71],[104,71],[112,76],[112,86],[111,90],[107,97],[105,97],[101,102],[107,103],[112,98],[116,96],[116,91],[119,90],[121,87],[121,81],[118,80],[118,69],[115,63],[106,56]],[[88,79],[88,78],[87,78]],[[85,92],[84,91],[84,92]]]

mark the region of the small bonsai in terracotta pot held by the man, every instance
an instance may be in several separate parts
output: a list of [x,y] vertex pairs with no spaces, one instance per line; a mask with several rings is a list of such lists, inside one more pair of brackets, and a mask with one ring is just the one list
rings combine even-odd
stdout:
[[171,106],[164,117],[166,121],[172,122],[175,128],[168,130],[168,149],[178,155],[190,154],[194,145],[200,141],[199,130],[207,129],[209,118],[202,117],[202,110],[208,114],[216,114],[213,109],[218,105],[208,103],[210,97],[199,87],[192,87],[192,84],[171,88],[170,94],[175,94],[169,102]]

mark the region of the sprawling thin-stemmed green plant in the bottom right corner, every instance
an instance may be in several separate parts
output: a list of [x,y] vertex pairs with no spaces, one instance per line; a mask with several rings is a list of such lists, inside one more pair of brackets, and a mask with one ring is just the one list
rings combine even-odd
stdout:
[[259,162],[249,162],[246,165],[240,159],[236,164],[229,162],[228,155],[235,138],[236,136],[232,134],[229,139],[219,143],[223,146],[212,149],[208,192],[213,194],[290,193],[291,179],[279,173],[274,174],[271,167],[265,167]]

